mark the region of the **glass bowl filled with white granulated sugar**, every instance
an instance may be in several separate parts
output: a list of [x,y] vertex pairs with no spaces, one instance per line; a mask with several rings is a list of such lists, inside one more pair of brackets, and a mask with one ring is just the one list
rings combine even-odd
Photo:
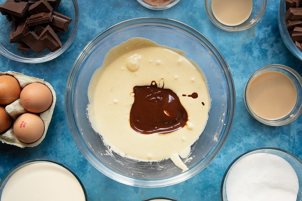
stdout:
[[302,199],[302,162],[276,147],[259,147],[240,154],[226,169],[221,200]]

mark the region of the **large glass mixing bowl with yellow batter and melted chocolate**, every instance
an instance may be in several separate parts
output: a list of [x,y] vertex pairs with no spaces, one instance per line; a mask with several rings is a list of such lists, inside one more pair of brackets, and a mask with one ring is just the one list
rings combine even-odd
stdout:
[[233,124],[235,90],[216,47],[182,22],[115,24],[83,49],[69,75],[66,117],[95,168],[123,184],[162,187],[204,169]]

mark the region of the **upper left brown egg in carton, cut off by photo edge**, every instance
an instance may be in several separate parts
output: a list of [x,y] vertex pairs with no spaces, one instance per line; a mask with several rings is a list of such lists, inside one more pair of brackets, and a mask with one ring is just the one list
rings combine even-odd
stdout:
[[8,105],[20,97],[19,81],[11,75],[0,75],[0,105]]

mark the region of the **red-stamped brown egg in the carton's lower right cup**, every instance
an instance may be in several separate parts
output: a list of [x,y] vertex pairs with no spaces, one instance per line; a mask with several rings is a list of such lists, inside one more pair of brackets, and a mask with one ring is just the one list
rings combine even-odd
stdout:
[[36,114],[25,113],[15,120],[13,130],[18,140],[33,143],[43,135],[44,122]]

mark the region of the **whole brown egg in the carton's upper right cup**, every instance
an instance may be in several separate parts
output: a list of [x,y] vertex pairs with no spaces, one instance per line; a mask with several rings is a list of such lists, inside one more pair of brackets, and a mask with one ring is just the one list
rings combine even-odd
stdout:
[[40,113],[51,106],[53,94],[45,84],[31,83],[22,89],[20,101],[27,111]]

